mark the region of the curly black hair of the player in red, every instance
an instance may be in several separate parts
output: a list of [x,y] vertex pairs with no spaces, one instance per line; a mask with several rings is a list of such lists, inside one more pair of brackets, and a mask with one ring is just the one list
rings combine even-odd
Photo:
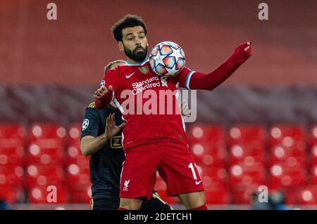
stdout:
[[144,29],[144,34],[147,35],[147,26],[139,15],[125,15],[122,19],[116,22],[112,29],[113,37],[116,41],[122,41],[122,30],[127,27],[141,26]]

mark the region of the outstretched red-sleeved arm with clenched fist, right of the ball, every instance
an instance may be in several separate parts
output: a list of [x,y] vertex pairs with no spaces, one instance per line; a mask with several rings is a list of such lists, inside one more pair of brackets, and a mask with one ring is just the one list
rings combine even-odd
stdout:
[[180,86],[190,89],[212,90],[228,79],[251,56],[251,43],[240,44],[232,55],[216,70],[209,74],[189,72],[186,77],[180,77]]

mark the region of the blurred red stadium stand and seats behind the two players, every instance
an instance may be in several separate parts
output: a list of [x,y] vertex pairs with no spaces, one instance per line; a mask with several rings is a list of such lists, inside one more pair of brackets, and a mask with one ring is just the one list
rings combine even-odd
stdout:
[[[209,209],[317,209],[317,1],[265,1],[268,20],[261,2],[1,0],[0,209],[90,209],[81,122],[104,65],[125,59],[110,29],[127,13],[146,22],[149,49],[174,41],[200,72],[252,41],[232,77],[197,93],[187,124]],[[165,188],[158,176],[182,209]]]

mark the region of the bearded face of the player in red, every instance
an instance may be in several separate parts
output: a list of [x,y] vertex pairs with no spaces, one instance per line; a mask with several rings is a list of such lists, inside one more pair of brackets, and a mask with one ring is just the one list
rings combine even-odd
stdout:
[[119,41],[119,48],[125,51],[132,62],[142,62],[147,58],[147,36],[141,26],[127,27],[122,30],[123,38]]

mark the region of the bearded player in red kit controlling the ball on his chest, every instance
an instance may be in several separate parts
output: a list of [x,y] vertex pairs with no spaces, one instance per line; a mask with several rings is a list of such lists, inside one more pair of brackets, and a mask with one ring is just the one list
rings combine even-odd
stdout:
[[[166,79],[158,77],[150,68],[147,27],[141,18],[126,15],[113,25],[112,31],[119,49],[127,56],[127,62],[106,72],[102,81],[104,86],[97,89],[94,98],[97,108],[103,108],[113,100],[127,121],[123,130],[126,156],[120,182],[119,210],[139,209],[141,197],[151,197],[156,171],[166,182],[168,196],[178,196],[187,209],[206,210],[203,183],[189,152],[181,115],[176,112],[135,114],[130,112],[130,107],[123,105],[127,104],[126,94],[129,92],[135,98],[139,95],[149,98],[145,96],[149,95],[147,91],[156,93],[155,100],[159,105],[164,100],[160,98],[160,91],[175,91],[178,87],[211,91],[250,57],[251,43],[237,46],[232,55],[209,74],[184,67],[175,77]],[[142,103],[135,103],[137,110],[144,109],[147,102]]]

